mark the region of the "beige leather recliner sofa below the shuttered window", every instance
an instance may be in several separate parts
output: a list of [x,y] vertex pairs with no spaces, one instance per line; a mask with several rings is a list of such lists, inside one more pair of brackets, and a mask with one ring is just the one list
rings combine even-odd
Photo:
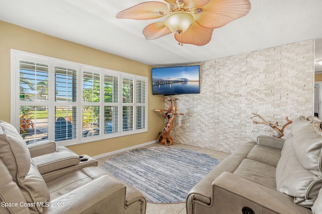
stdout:
[[0,213],[143,214],[146,200],[134,187],[53,142],[27,146],[0,120]]

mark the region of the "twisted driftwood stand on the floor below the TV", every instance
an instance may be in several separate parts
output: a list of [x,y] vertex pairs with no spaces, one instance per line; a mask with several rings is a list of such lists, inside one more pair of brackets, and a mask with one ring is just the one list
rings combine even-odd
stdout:
[[[170,131],[173,126],[173,121],[176,119],[177,115],[184,115],[182,113],[177,113],[177,106],[173,106],[172,101],[177,100],[175,98],[169,98],[166,99],[170,103],[170,107],[168,110],[165,109],[154,109],[154,111],[160,112],[161,116],[166,119],[166,124],[163,128],[163,131],[159,133],[159,136],[157,137],[159,144],[166,144],[168,145],[169,141],[169,146],[173,144],[173,139],[170,137]],[[166,112],[166,113],[164,113]]]

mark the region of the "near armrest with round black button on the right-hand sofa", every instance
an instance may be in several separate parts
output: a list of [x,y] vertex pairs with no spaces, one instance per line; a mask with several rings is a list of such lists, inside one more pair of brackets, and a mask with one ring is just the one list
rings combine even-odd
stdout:
[[312,213],[311,209],[294,203],[287,194],[229,172],[219,175],[212,186],[212,203],[218,213],[241,213],[245,206],[255,213]]

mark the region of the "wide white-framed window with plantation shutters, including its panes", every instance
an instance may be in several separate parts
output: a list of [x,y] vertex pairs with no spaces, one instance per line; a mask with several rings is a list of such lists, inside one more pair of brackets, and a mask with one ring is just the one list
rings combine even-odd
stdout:
[[147,78],[12,50],[12,124],[26,143],[147,131]]

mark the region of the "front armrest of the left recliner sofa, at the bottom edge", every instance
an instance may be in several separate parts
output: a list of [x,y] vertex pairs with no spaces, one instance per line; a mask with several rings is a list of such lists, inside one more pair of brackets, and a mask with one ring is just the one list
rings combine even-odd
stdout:
[[[122,213],[125,209],[125,192],[123,183],[102,175],[53,198],[44,207],[43,213]],[[120,206],[121,210],[115,210],[120,209]]]

